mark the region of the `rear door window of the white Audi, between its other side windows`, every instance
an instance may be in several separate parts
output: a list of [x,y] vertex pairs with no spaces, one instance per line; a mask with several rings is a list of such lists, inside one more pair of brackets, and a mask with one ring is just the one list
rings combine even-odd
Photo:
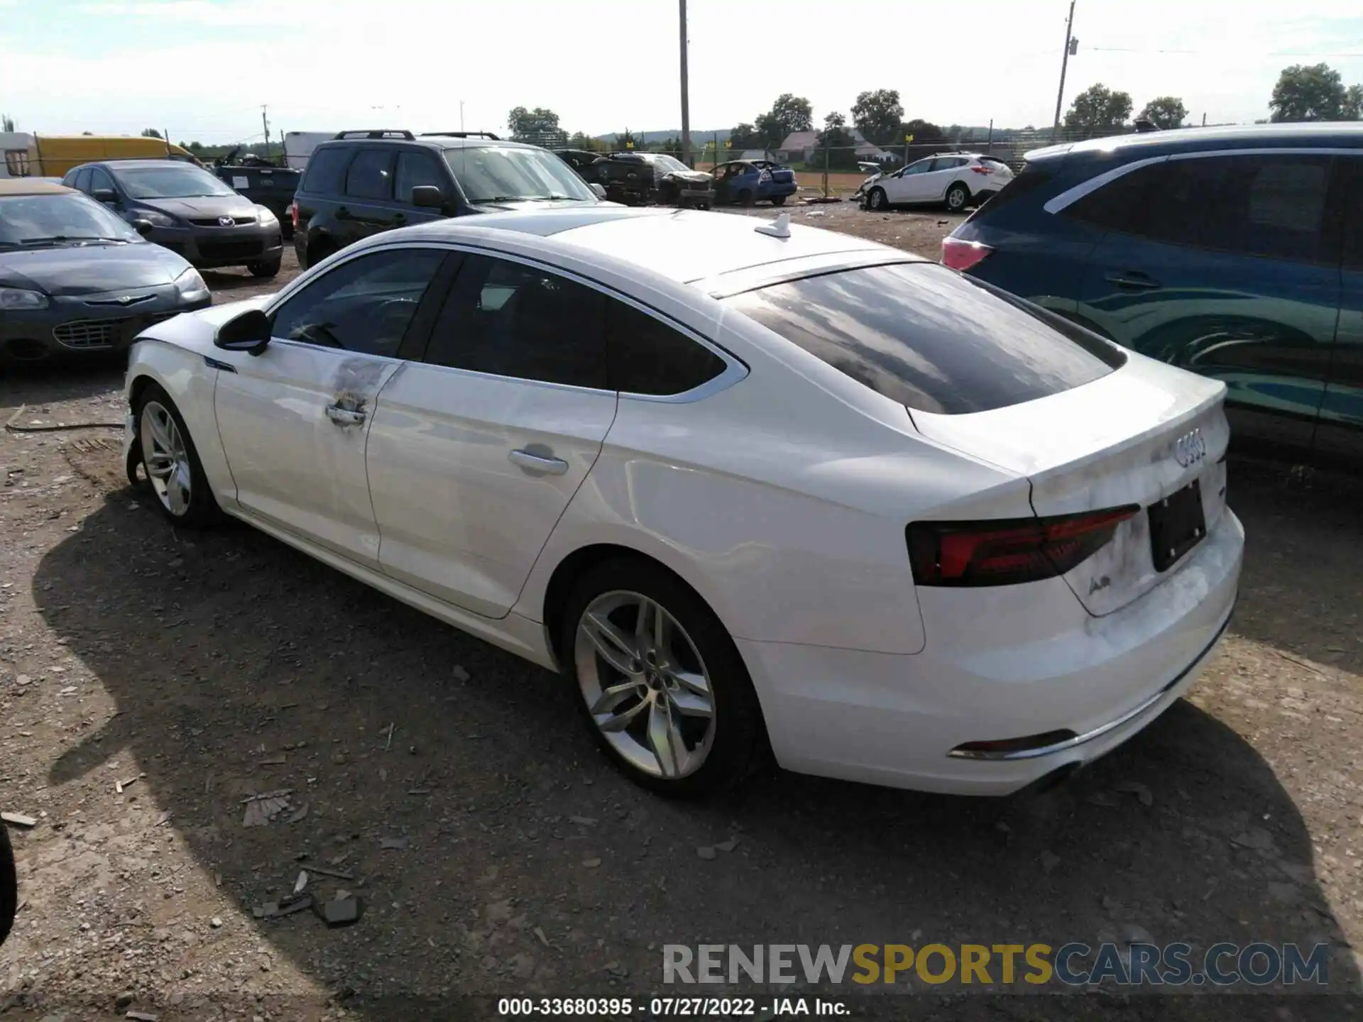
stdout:
[[425,361],[605,390],[605,301],[600,292],[548,270],[466,256]]

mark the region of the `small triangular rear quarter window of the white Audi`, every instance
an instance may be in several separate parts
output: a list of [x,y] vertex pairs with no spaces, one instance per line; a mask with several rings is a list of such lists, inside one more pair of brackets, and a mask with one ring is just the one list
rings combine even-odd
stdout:
[[605,330],[611,388],[683,394],[724,372],[724,360],[660,319],[608,298]]

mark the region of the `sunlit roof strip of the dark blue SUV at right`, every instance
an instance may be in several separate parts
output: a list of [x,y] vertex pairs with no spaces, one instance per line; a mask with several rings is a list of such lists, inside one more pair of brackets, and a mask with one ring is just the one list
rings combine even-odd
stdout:
[[1070,142],[1035,149],[1028,159],[1045,159],[1062,154],[1138,159],[1161,153],[1202,149],[1247,149],[1251,146],[1341,146],[1363,149],[1363,123],[1303,121],[1298,124],[1231,124],[1216,128],[1171,128],[1134,135]]

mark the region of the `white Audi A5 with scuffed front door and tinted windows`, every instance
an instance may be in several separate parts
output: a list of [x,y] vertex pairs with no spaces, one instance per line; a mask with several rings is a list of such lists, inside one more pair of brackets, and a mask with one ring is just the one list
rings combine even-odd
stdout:
[[129,476],[562,669],[626,773],[1050,782],[1231,616],[1221,383],[898,249],[485,214],[151,327]]

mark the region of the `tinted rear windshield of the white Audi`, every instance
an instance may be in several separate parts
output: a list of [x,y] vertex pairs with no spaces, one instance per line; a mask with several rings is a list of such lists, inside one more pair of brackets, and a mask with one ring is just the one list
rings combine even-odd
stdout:
[[917,412],[1020,405],[1126,361],[1097,335],[936,263],[807,277],[725,304]]

